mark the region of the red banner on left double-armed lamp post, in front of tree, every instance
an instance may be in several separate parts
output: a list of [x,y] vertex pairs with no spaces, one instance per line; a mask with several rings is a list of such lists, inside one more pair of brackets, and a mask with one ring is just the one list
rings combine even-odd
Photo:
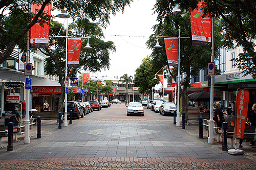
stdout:
[[81,38],[68,38],[68,66],[76,67],[79,64]]

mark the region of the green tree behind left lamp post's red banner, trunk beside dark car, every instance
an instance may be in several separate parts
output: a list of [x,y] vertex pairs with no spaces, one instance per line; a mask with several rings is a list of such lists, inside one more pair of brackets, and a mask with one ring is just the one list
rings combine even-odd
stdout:
[[[60,28],[61,25],[58,22],[51,22],[51,34],[49,35],[51,41],[49,48],[39,48],[39,50],[49,56],[49,58],[46,59],[45,65],[46,75],[57,75],[59,77],[61,94],[58,110],[61,111],[61,103],[65,96],[66,39],[56,37]],[[63,36],[65,36],[65,34],[65,29],[62,29],[59,33],[59,35]],[[76,77],[81,69],[88,70],[89,72],[108,69],[110,65],[110,51],[115,52],[115,46],[112,41],[104,42],[100,40],[100,38],[103,38],[103,33],[98,23],[92,23],[88,19],[82,19],[69,25],[69,36],[84,37],[86,35],[92,35],[90,38],[92,49],[84,49],[83,47],[86,46],[87,39],[82,39],[79,65],[77,67],[68,68],[68,77],[70,78]]]

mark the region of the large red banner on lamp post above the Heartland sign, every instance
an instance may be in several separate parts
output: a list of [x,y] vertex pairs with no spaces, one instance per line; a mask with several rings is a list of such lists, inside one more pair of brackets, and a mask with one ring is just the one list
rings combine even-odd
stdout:
[[191,33],[193,45],[211,45],[211,19],[210,16],[204,17],[202,2],[198,8],[190,13]]

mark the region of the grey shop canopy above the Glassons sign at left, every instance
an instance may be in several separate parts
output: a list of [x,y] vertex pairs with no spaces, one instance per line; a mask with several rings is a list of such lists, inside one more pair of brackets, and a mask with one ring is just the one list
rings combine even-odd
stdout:
[[[34,82],[37,80],[45,79],[46,76],[33,75],[33,76],[30,76],[30,78],[32,78],[32,81]],[[9,80],[25,82],[26,76],[22,71],[17,71],[15,69],[0,66],[0,79],[2,79],[2,82],[9,81]]]

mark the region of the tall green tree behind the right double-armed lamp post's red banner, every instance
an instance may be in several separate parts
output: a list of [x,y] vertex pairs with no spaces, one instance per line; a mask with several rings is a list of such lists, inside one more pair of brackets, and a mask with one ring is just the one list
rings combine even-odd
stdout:
[[[218,24],[218,21],[216,21]],[[192,45],[191,42],[191,28],[190,28],[190,15],[186,13],[184,16],[180,14],[172,14],[166,16],[163,22],[154,26],[155,34],[151,36],[151,39],[147,41],[149,47],[153,48],[151,54],[153,67],[156,69],[161,69],[167,64],[167,57],[164,48],[164,39],[159,38],[159,43],[163,48],[154,48],[156,44],[155,37],[161,33],[162,36],[178,37],[178,29],[180,28],[181,38],[180,39],[180,72],[181,80],[180,94],[182,97],[182,112],[187,111],[187,91],[186,89],[190,87],[190,77],[198,76],[201,69],[207,68],[207,63],[210,62],[211,58],[211,48],[207,46]],[[216,30],[219,27],[216,26]],[[215,57],[219,55],[220,47],[220,33],[215,34]],[[176,80],[178,74],[178,68],[173,67],[172,71],[169,70],[169,76]]]

